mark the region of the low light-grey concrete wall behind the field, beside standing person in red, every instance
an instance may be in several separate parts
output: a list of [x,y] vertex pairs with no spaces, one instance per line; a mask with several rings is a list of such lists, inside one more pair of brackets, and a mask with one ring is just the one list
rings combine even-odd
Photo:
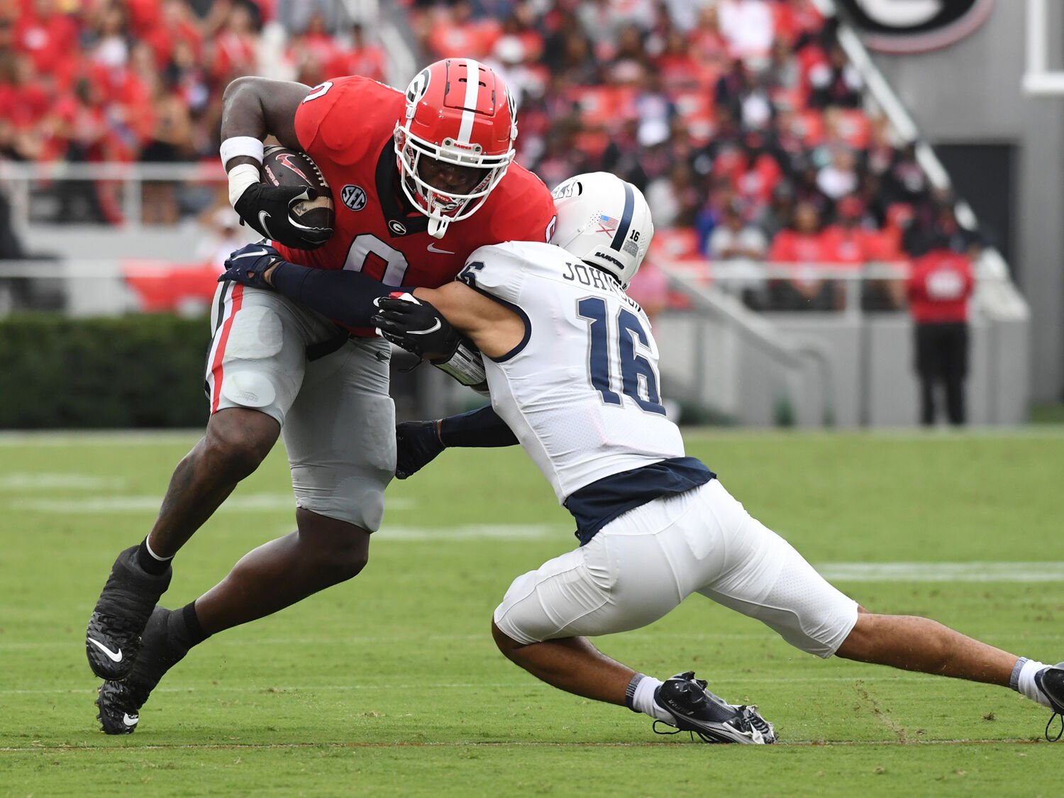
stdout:
[[[815,345],[824,364],[810,359],[784,366],[734,327],[693,313],[669,313],[654,322],[665,396],[755,427],[777,422],[782,398],[797,427],[821,427],[827,418],[843,429],[918,423],[908,314],[775,313],[769,318],[781,339]],[[970,425],[1026,421],[1027,330],[1023,319],[974,313],[966,384]]]

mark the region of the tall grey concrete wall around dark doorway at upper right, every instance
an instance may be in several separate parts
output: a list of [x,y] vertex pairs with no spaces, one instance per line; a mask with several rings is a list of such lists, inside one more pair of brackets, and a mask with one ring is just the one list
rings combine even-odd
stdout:
[[[978,31],[934,52],[874,54],[876,64],[935,144],[1018,148],[1014,272],[1031,309],[1035,401],[1064,398],[1064,98],[1029,97],[1026,3],[999,0]],[[1064,70],[1064,7],[1049,3],[1049,63]]]

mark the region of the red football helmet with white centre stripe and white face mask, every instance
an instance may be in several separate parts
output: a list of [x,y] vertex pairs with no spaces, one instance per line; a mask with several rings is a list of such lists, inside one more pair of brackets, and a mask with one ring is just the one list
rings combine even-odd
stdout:
[[[395,150],[406,198],[429,217],[429,234],[472,216],[514,160],[516,106],[505,83],[472,59],[430,64],[406,87],[406,113],[396,123]],[[422,157],[435,161],[429,167]],[[432,184],[436,167],[463,176]],[[473,171],[476,170],[476,171]]]

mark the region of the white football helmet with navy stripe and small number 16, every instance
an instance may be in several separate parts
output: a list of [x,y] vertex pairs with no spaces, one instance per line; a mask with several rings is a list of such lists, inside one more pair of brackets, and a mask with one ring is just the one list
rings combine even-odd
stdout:
[[616,174],[593,171],[569,178],[552,194],[558,223],[550,243],[627,288],[654,235],[643,193]]

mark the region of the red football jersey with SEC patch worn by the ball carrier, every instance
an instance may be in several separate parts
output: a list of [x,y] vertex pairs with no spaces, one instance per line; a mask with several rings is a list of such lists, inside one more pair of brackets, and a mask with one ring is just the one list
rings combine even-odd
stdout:
[[306,95],[296,112],[296,135],[332,189],[336,221],[332,238],[318,249],[275,245],[285,260],[364,271],[386,285],[436,288],[453,280],[478,247],[549,240],[553,198],[517,164],[472,216],[451,222],[443,238],[430,236],[429,217],[410,205],[399,185],[392,136],[404,111],[401,92],[358,76],[335,78]]

